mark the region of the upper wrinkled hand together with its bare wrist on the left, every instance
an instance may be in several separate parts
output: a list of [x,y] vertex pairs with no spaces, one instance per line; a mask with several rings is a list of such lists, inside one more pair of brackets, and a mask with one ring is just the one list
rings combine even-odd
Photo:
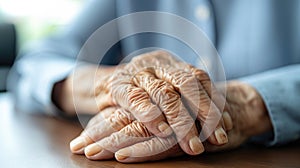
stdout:
[[[218,94],[204,71],[166,52],[143,54],[112,69],[86,66],[74,74],[58,84],[62,89],[56,89],[60,91],[54,96],[56,104],[68,114],[75,113],[73,104],[77,112],[91,114],[122,107],[158,137],[174,132],[181,149],[190,155],[204,151],[198,138],[201,130],[212,144],[228,141],[225,130],[230,130],[232,124],[224,124],[221,117],[223,110],[228,111],[227,106],[223,109],[223,95]],[[56,92],[54,89],[54,95]],[[197,130],[196,119],[201,130]],[[81,148],[74,148],[75,153],[82,152],[84,141],[76,141]]]

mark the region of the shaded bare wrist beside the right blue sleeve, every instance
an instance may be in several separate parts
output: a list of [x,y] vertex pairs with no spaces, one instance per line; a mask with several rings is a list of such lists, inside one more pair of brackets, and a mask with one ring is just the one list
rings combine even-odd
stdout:
[[246,138],[272,130],[265,103],[252,86],[239,81],[228,82],[226,98],[235,120],[239,122],[236,125]]

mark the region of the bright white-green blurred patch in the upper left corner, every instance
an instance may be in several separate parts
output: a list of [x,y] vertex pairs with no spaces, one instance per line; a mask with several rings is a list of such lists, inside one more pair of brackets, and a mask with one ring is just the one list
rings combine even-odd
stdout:
[[18,45],[38,40],[68,23],[83,0],[0,0],[0,22],[16,26]]

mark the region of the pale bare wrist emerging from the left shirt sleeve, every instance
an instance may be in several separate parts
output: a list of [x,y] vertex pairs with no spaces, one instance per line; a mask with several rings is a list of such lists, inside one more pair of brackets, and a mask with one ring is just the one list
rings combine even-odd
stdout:
[[[99,111],[95,103],[98,92],[104,88],[99,83],[107,82],[119,66],[85,65],[76,69],[66,79],[53,86],[52,101],[66,116],[78,114],[95,114]],[[76,105],[76,108],[75,108]]]

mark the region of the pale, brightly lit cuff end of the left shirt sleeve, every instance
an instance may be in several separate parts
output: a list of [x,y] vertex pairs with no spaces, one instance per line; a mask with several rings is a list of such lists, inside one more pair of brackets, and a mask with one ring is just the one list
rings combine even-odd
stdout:
[[18,110],[56,115],[58,109],[51,100],[53,86],[72,71],[75,60],[44,56],[49,58],[29,57],[15,63],[8,79],[8,90],[13,93]]

